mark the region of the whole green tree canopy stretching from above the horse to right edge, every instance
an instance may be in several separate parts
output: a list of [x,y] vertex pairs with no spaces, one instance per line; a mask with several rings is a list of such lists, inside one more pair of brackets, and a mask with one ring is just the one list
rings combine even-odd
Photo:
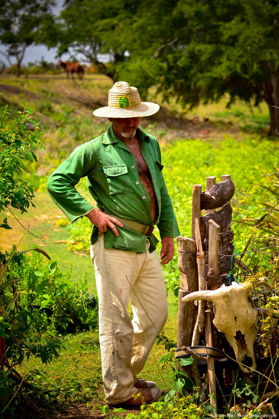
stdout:
[[278,25],[275,0],[66,0],[46,44],[82,53],[142,96],[156,85],[190,108],[225,93],[228,106],[266,101],[277,135]]

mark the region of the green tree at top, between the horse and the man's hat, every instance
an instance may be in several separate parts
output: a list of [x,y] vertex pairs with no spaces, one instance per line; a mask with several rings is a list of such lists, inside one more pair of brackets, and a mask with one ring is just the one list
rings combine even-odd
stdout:
[[118,65],[128,60],[127,29],[138,4],[133,0],[68,0],[56,25],[46,31],[42,26],[41,39],[48,47],[58,47],[57,56],[82,54],[115,82]]

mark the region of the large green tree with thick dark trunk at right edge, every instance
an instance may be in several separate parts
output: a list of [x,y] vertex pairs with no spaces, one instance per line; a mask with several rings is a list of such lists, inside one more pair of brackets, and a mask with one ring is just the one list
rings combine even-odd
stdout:
[[279,112],[274,106],[279,106],[278,2],[173,2],[163,36],[156,13],[159,3],[153,2],[149,9],[142,5],[141,16],[138,13],[137,17],[139,22],[145,22],[145,34],[146,28],[155,28],[147,37],[139,36],[141,56],[150,63],[156,60],[164,65],[158,85],[164,97],[176,96],[190,108],[200,101],[218,101],[225,93],[230,95],[228,106],[236,97],[253,100],[255,105],[266,101],[271,134],[277,136]]

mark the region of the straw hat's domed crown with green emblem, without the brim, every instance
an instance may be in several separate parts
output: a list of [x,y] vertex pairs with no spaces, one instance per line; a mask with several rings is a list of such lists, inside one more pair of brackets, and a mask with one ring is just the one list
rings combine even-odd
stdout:
[[141,104],[141,98],[136,87],[125,81],[117,81],[108,94],[109,108],[130,109]]

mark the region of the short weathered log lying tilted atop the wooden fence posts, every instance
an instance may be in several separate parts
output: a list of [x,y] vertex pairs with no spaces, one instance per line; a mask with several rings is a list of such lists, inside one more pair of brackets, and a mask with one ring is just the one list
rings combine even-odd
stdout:
[[200,209],[214,209],[223,207],[233,197],[235,187],[231,179],[212,186],[209,191],[200,196]]

